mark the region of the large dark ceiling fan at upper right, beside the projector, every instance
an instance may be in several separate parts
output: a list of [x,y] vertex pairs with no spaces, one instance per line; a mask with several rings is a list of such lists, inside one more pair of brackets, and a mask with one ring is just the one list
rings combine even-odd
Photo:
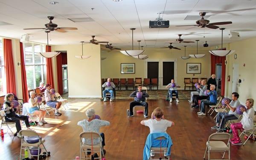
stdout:
[[209,23],[209,20],[205,20],[204,16],[206,15],[206,12],[199,12],[199,15],[202,16],[201,20],[197,20],[195,25],[181,25],[181,26],[199,26],[201,28],[210,28],[210,29],[217,29],[219,26],[215,25],[224,25],[224,24],[231,24],[231,21],[226,22],[215,22],[215,23]]

